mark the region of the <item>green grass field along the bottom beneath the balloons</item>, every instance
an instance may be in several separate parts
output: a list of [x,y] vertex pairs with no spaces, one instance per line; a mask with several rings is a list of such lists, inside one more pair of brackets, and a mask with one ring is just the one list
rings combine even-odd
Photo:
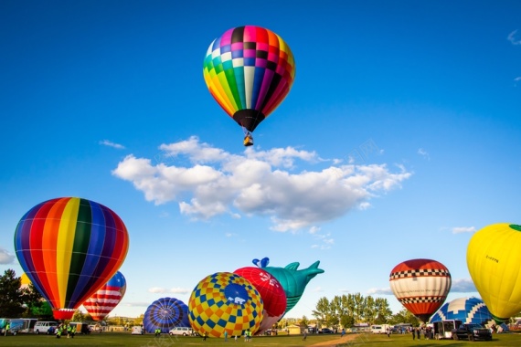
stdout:
[[[354,339],[335,344],[337,347],[350,346],[388,346],[388,347],[431,347],[431,346],[487,346],[487,347],[509,347],[521,346],[521,334],[519,333],[504,333],[494,334],[492,342],[462,342],[452,340],[412,340],[411,335],[373,335],[373,334],[356,334],[351,335]],[[0,336],[0,346],[124,346],[124,347],[176,347],[176,346],[258,346],[258,347],[300,347],[311,346],[321,342],[337,341],[340,335],[308,335],[307,340],[303,342],[302,336],[261,336],[253,337],[252,342],[244,342],[244,339],[239,338],[237,342],[229,339],[229,342],[224,342],[224,339],[210,339],[202,341],[200,337],[172,337],[162,335],[161,337],[154,337],[153,334],[147,335],[131,335],[130,333],[118,332],[102,332],[92,333],[90,335],[76,335],[74,339],[62,337],[57,339],[54,336],[48,335],[34,335],[34,334],[19,334],[16,336]]]

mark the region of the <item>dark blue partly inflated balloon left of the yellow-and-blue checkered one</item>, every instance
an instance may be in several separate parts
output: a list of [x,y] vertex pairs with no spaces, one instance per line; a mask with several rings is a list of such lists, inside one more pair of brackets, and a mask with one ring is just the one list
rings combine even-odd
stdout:
[[162,333],[174,327],[189,327],[188,306],[175,298],[155,300],[144,312],[143,326],[147,332],[161,329]]

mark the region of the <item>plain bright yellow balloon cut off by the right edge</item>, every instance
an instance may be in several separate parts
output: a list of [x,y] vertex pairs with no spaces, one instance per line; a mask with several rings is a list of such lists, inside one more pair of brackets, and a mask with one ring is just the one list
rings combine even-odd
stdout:
[[499,223],[476,232],[467,247],[467,267],[494,321],[521,310],[521,226]]

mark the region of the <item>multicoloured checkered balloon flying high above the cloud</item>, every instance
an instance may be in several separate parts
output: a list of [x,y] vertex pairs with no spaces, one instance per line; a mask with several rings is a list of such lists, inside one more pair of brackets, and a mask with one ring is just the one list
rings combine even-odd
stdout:
[[229,29],[208,47],[203,75],[211,95],[242,127],[244,145],[251,132],[284,100],[295,78],[290,47],[260,26]]

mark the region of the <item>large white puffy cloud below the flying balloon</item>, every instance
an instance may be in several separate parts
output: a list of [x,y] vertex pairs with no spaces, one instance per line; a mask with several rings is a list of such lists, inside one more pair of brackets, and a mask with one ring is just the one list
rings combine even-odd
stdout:
[[[269,151],[249,147],[232,154],[195,136],[163,144],[160,150],[167,163],[131,154],[112,174],[131,182],[147,201],[177,203],[186,216],[267,216],[272,229],[281,232],[367,207],[371,198],[399,188],[411,175],[403,166],[391,172],[386,164],[334,166],[316,152],[292,147]],[[314,165],[322,168],[313,171]]]

